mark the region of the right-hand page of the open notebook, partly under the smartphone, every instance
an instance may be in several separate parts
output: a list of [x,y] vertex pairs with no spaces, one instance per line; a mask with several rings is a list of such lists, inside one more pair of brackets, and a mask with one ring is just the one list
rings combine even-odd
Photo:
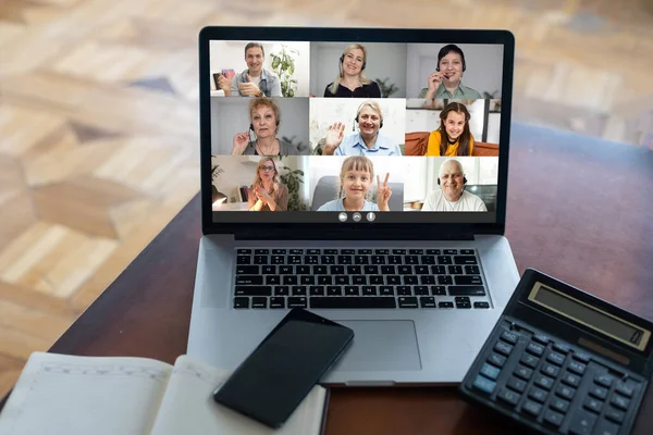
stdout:
[[286,423],[272,428],[213,401],[213,390],[229,376],[223,370],[178,357],[163,396],[152,435],[318,435],[326,390],[316,386]]

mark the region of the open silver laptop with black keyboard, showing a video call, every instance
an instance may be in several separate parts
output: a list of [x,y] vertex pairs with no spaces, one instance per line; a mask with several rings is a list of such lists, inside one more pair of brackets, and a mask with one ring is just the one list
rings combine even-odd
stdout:
[[457,384],[519,281],[506,30],[207,27],[188,355],[289,309],[352,327],[325,385]]

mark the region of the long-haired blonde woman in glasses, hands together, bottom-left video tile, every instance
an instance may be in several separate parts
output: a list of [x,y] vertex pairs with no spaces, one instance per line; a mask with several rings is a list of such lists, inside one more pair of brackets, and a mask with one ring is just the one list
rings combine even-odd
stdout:
[[248,189],[249,211],[286,211],[288,188],[279,179],[276,163],[271,158],[262,158],[256,165],[254,183]]

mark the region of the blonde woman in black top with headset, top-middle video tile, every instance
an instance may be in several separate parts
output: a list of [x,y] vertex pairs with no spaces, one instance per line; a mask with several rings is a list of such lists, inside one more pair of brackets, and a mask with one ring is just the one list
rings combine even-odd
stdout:
[[365,76],[367,50],[360,44],[352,44],[338,61],[338,74],[324,89],[324,97],[381,98],[381,88]]

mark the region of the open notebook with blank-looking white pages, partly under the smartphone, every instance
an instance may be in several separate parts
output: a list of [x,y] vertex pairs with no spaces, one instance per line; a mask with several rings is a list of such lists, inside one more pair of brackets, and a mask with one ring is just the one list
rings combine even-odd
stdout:
[[187,356],[173,366],[146,358],[34,352],[0,412],[0,435],[321,433],[322,386],[273,431],[213,401],[227,376]]

